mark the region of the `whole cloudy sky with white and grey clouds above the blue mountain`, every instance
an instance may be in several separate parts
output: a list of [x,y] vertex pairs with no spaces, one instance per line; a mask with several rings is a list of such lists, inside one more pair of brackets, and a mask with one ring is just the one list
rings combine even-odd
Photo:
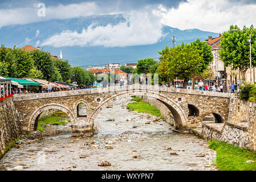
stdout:
[[[38,16],[38,4],[46,6],[46,16]],[[123,14],[127,22],[116,26],[88,27],[83,32],[66,30],[52,35],[38,44],[60,46],[133,46],[138,39],[151,44],[162,36],[162,24],[181,30],[198,28],[204,31],[223,32],[230,24],[239,27],[256,22],[256,1],[229,0],[0,0],[0,28],[10,24],[27,24],[50,19],[67,19],[78,16]],[[37,36],[40,33],[35,32]],[[143,36],[142,36],[143,35]],[[100,37],[100,38],[99,38]],[[119,37],[129,38],[127,42]],[[80,41],[81,39],[86,39]],[[104,42],[105,41],[105,42]],[[63,46],[63,42],[61,43]]]

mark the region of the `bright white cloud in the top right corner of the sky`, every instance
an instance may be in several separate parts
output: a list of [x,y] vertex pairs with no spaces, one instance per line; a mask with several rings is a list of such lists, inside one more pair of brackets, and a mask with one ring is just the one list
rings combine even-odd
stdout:
[[156,14],[162,23],[181,30],[198,28],[205,31],[223,32],[230,24],[239,27],[256,24],[256,5],[235,3],[228,0],[188,0],[177,9],[160,6]]

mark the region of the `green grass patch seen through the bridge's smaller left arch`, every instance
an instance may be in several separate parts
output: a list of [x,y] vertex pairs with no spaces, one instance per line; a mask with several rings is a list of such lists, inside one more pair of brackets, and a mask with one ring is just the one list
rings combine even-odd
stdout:
[[54,114],[47,115],[46,117],[40,118],[38,122],[38,130],[43,132],[45,128],[43,126],[47,126],[47,124],[52,125],[63,125],[67,122],[63,121],[67,119],[68,115],[62,111],[57,111]]

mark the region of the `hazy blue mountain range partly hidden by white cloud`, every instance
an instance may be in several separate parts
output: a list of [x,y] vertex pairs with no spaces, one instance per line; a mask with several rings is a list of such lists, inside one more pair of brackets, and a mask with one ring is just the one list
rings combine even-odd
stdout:
[[[60,34],[65,30],[81,32],[92,23],[100,26],[108,24],[116,25],[119,22],[125,22],[123,15],[97,15],[87,17],[77,17],[71,19],[54,19],[46,22],[15,24],[0,28],[0,44],[5,47],[13,46],[24,47],[28,44],[37,47],[38,40],[42,42],[52,35]],[[73,66],[88,68],[92,66],[104,66],[105,63],[136,63],[139,59],[145,57],[159,57],[157,51],[172,46],[172,36],[176,36],[176,44],[190,43],[197,38],[200,40],[208,39],[208,36],[217,37],[219,33],[201,31],[196,28],[189,30],[179,30],[169,26],[162,26],[162,36],[156,43],[127,46],[127,47],[104,47],[104,46],[66,46],[56,48],[52,46],[43,46],[46,51],[52,55],[58,56],[62,49],[63,59],[68,59]]]

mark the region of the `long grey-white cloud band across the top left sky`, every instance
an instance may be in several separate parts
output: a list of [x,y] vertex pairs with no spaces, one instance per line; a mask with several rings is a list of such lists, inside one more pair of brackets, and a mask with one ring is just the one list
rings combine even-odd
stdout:
[[78,16],[90,16],[99,14],[115,14],[117,11],[110,12],[101,9],[95,2],[82,2],[79,4],[58,5],[46,7],[46,16],[38,16],[38,1],[34,1],[29,7],[15,9],[0,8],[0,27],[10,24],[27,24],[42,22],[51,19],[66,19]]

